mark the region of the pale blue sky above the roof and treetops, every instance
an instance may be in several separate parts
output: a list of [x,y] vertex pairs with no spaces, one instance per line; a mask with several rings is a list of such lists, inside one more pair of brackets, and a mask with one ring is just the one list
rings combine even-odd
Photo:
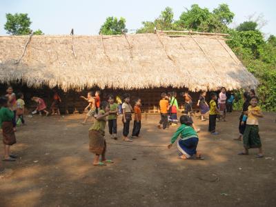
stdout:
[[[170,6],[178,19],[181,12],[194,3],[212,11],[220,3],[227,3],[235,13],[231,27],[248,20],[250,15],[259,15],[267,23],[262,32],[276,35],[276,1],[275,0],[0,0],[0,35],[5,35],[4,24],[6,13],[28,13],[32,21],[32,30],[41,29],[45,34],[70,34],[74,28],[75,34],[98,34],[106,17],[124,17],[126,28],[135,32],[141,28],[142,21],[153,21],[159,17],[166,6]],[[253,17],[253,19],[254,19]]]

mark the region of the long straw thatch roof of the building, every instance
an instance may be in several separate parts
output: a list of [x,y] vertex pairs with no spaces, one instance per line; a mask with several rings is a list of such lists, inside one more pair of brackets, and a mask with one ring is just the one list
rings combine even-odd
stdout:
[[217,36],[2,36],[0,50],[0,81],[21,80],[32,87],[197,91],[258,84]]

